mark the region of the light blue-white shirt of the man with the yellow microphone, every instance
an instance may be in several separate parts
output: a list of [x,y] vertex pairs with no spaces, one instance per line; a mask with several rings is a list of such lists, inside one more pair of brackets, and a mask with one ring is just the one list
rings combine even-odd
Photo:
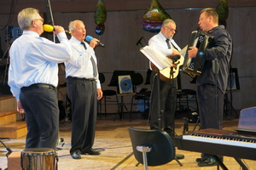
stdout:
[[57,87],[58,63],[70,59],[71,46],[65,32],[58,34],[61,43],[39,37],[37,32],[23,31],[10,50],[8,84],[12,94],[20,101],[20,88],[34,83]]

